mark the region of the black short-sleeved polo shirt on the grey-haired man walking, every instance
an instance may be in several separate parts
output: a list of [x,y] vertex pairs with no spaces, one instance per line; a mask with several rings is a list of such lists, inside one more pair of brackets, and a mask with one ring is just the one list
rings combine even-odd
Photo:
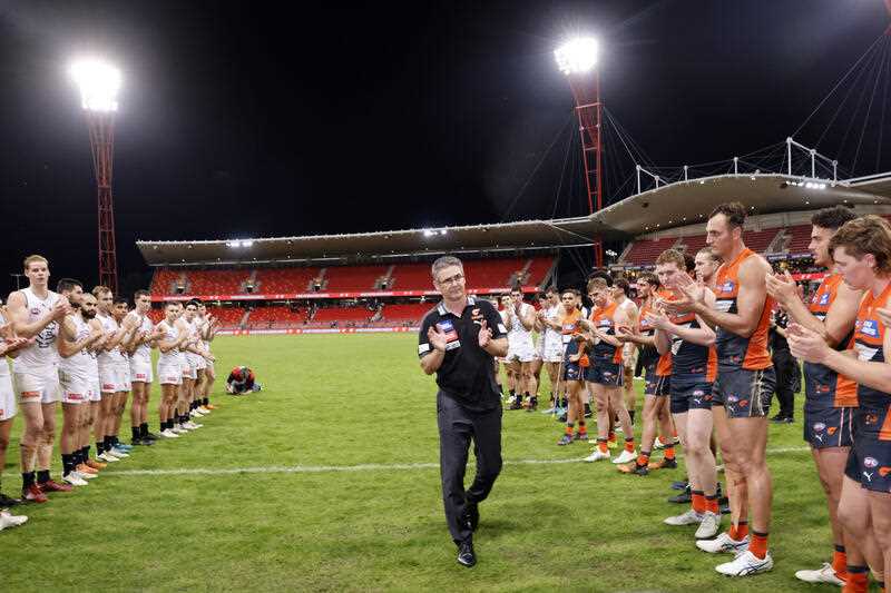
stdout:
[[427,337],[433,326],[446,332],[448,344],[446,357],[437,370],[440,391],[471,411],[488,412],[501,406],[501,392],[495,380],[492,355],[480,348],[480,322],[492,330],[492,339],[507,335],[498,310],[488,300],[467,297],[467,306],[460,317],[440,303],[421,323],[418,335],[418,356],[423,358],[433,352]]

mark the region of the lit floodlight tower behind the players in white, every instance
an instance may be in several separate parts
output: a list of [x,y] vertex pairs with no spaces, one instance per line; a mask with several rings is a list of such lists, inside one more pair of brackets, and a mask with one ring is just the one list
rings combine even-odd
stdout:
[[120,72],[96,59],[77,61],[71,78],[80,89],[80,103],[90,130],[92,167],[99,194],[99,284],[118,293],[118,265],[115,249],[115,211],[111,206],[111,157],[115,144],[115,113],[118,110]]

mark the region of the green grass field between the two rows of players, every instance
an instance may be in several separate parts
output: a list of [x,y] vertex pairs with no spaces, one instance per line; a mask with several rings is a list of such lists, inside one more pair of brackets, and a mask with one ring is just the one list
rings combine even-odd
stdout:
[[[775,569],[731,580],[714,571],[730,556],[699,552],[693,527],[662,523],[684,511],[665,501],[683,470],[642,478],[603,462],[520,463],[572,462],[589,447],[555,446],[550,416],[506,412],[507,464],[480,507],[479,564],[463,569],[415,337],[224,337],[214,349],[217,368],[247,364],[264,391],[234,398],[218,383],[219,408],[197,433],[23,507],[30,522],[0,534],[0,591],[813,591],[793,573],[830,557],[800,417],[771,427]],[[156,387],[153,408],[157,398]],[[19,486],[20,431],[17,419],[8,493]]]

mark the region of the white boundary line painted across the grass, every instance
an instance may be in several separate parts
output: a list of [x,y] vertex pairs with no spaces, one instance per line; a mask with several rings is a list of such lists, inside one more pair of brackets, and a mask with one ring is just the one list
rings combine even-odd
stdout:
[[[768,455],[784,453],[802,453],[811,447],[768,448]],[[678,455],[683,457],[683,455]],[[581,458],[571,459],[507,459],[505,465],[559,465],[582,463]],[[438,463],[366,463],[361,465],[268,465],[257,467],[184,467],[180,470],[124,470],[123,472],[104,472],[108,477],[131,476],[218,476],[237,474],[324,474],[337,472],[405,472],[414,470],[439,470]]]

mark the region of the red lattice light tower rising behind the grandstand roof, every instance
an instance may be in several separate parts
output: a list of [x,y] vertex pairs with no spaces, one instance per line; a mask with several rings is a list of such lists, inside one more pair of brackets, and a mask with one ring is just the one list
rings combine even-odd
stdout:
[[[588,211],[594,214],[603,208],[603,176],[600,121],[600,75],[597,71],[597,40],[590,37],[570,39],[554,52],[557,66],[569,79],[572,97],[576,100],[578,131],[581,137],[581,160],[585,162],[585,187],[588,191]],[[600,239],[594,244],[595,265],[604,265],[604,250]]]

